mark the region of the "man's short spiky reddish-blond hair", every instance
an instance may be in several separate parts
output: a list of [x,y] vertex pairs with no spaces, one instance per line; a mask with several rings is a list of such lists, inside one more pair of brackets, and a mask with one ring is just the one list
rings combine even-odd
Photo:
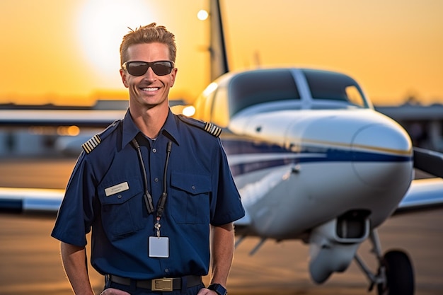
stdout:
[[120,45],[120,66],[129,59],[127,49],[131,45],[159,42],[167,45],[169,48],[169,59],[171,62],[176,62],[177,46],[176,37],[173,33],[166,30],[163,25],[156,25],[151,23],[149,25],[140,26],[135,30],[130,28],[130,33],[127,33]]

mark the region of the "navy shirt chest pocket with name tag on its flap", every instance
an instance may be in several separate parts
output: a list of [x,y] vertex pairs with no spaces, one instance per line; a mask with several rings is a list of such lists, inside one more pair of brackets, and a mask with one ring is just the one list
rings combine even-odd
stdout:
[[[125,188],[125,183],[129,189],[115,193],[109,191],[115,185]],[[142,196],[142,185],[137,181],[115,181],[98,186],[103,229],[111,241],[125,238],[144,228]]]

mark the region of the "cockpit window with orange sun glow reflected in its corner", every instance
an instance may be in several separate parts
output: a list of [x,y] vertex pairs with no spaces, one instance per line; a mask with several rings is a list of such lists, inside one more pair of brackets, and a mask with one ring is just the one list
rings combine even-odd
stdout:
[[304,69],[312,98],[318,100],[340,100],[352,105],[367,107],[358,83],[344,74]]

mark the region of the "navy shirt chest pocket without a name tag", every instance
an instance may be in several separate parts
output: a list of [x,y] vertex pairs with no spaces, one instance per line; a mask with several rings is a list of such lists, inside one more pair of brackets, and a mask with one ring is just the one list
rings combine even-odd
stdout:
[[171,212],[178,224],[209,224],[209,175],[171,173]]

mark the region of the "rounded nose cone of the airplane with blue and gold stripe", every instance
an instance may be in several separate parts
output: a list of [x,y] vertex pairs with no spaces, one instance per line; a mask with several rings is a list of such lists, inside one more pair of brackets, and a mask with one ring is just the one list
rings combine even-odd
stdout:
[[372,187],[409,182],[413,149],[408,134],[395,125],[372,124],[355,132],[352,166],[357,177]]

